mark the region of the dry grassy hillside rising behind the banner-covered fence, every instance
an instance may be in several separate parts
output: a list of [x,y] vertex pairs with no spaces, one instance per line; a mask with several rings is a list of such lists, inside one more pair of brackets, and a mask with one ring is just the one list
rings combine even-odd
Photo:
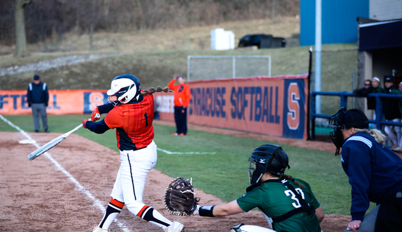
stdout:
[[[214,28],[233,31],[237,46],[238,39],[250,33],[266,33],[273,34],[275,37],[290,38],[292,34],[300,31],[300,22],[298,18],[278,18],[276,20],[227,22],[221,25],[188,27],[178,30],[147,30],[132,34],[97,33],[94,37],[93,51],[88,51],[89,38],[87,35],[78,37],[75,34],[69,34],[61,43],[54,44],[51,50],[55,52],[43,53],[42,44],[30,44],[28,47],[30,56],[25,58],[14,58],[11,54],[0,56],[0,67],[38,63],[41,60],[50,60],[60,56],[112,53],[116,56],[42,70],[35,74],[40,75],[52,89],[106,89],[110,79],[122,73],[137,75],[142,85],[148,87],[167,84],[173,75],[185,73],[187,56],[190,55],[271,55],[283,50],[211,51],[210,30]],[[7,53],[12,49],[12,47],[1,47],[2,53]],[[301,48],[297,48],[297,50],[296,53],[306,51]],[[305,70],[305,67],[303,69]],[[284,70],[277,67],[272,74],[283,73]],[[297,73],[300,73],[300,70],[297,70]],[[2,76],[0,77],[0,89],[25,89],[33,75],[34,72],[30,71],[18,75]]]

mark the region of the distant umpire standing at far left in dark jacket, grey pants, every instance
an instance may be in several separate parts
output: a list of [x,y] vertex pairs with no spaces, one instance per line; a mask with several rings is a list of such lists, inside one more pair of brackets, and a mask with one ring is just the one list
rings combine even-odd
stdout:
[[42,119],[44,132],[49,132],[47,127],[47,112],[46,108],[49,103],[49,91],[47,85],[40,81],[38,75],[34,76],[34,81],[28,85],[27,101],[28,106],[32,108],[32,117],[34,121],[35,132],[39,132],[40,122],[39,117]]

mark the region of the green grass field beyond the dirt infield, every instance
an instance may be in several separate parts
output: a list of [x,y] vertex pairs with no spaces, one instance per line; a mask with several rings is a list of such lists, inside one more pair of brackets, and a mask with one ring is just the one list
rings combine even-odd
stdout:
[[[5,117],[24,131],[33,130],[31,115]],[[49,129],[51,132],[66,133],[86,117],[89,115],[49,115]],[[0,131],[16,131],[16,129],[0,120]],[[193,177],[196,188],[216,195],[226,202],[245,193],[245,188],[248,186],[248,157],[252,150],[262,144],[270,143],[269,141],[224,136],[193,129],[189,130],[188,136],[171,136],[174,131],[173,127],[157,124],[154,124],[154,131],[154,141],[158,148],[163,150],[215,153],[181,155],[180,159],[172,159],[169,154],[159,150],[155,169],[171,177]],[[80,129],[75,133],[114,149],[117,153],[114,130],[106,131],[102,135],[94,134],[87,129]],[[334,153],[319,150],[279,145],[284,148],[290,159],[291,169],[286,170],[286,174],[310,183],[326,214],[349,214],[351,187],[341,168],[340,157],[335,157]]]

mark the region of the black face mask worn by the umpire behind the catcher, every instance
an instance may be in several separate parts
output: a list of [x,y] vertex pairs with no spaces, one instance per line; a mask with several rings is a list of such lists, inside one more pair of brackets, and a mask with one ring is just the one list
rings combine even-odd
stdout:
[[334,126],[334,130],[329,132],[332,143],[336,146],[335,155],[341,155],[341,147],[343,141],[343,129],[351,129],[352,127],[358,129],[368,129],[369,122],[362,110],[341,108],[335,115],[329,119],[329,125]]

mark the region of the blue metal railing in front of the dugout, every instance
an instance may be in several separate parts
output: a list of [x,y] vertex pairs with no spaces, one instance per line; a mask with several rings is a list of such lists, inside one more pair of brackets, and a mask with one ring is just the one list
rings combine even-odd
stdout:
[[[368,97],[374,97],[375,102],[376,102],[376,108],[375,108],[375,120],[369,120],[369,123],[374,123],[375,127],[377,129],[381,129],[383,125],[390,125],[390,126],[397,126],[397,127],[402,127],[402,122],[390,122],[390,121],[385,121],[383,119],[383,112],[382,112],[382,98],[398,98],[402,99],[402,94],[368,94],[367,97],[362,97],[362,96],[355,96],[355,94],[348,93],[346,91],[341,91],[341,92],[318,92],[318,91],[312,91],[311,93],[311,139],[315,139],[315,119],[317,117],[319,118],[326,118],[329,119],[331,118],[332,115],[324,115],[324,114],[317,114],[316,109],[315,109],[315,97],[316,96],[339,96],[341,98],[341,104],[339,108],[348,108],[348,97],[353,97],[353,98],[368,98]],[[399,109],[396,109],[399,110]],[[336,114],[336,112],[334,112]],[[334,115],[333,114],[333,115]]]

